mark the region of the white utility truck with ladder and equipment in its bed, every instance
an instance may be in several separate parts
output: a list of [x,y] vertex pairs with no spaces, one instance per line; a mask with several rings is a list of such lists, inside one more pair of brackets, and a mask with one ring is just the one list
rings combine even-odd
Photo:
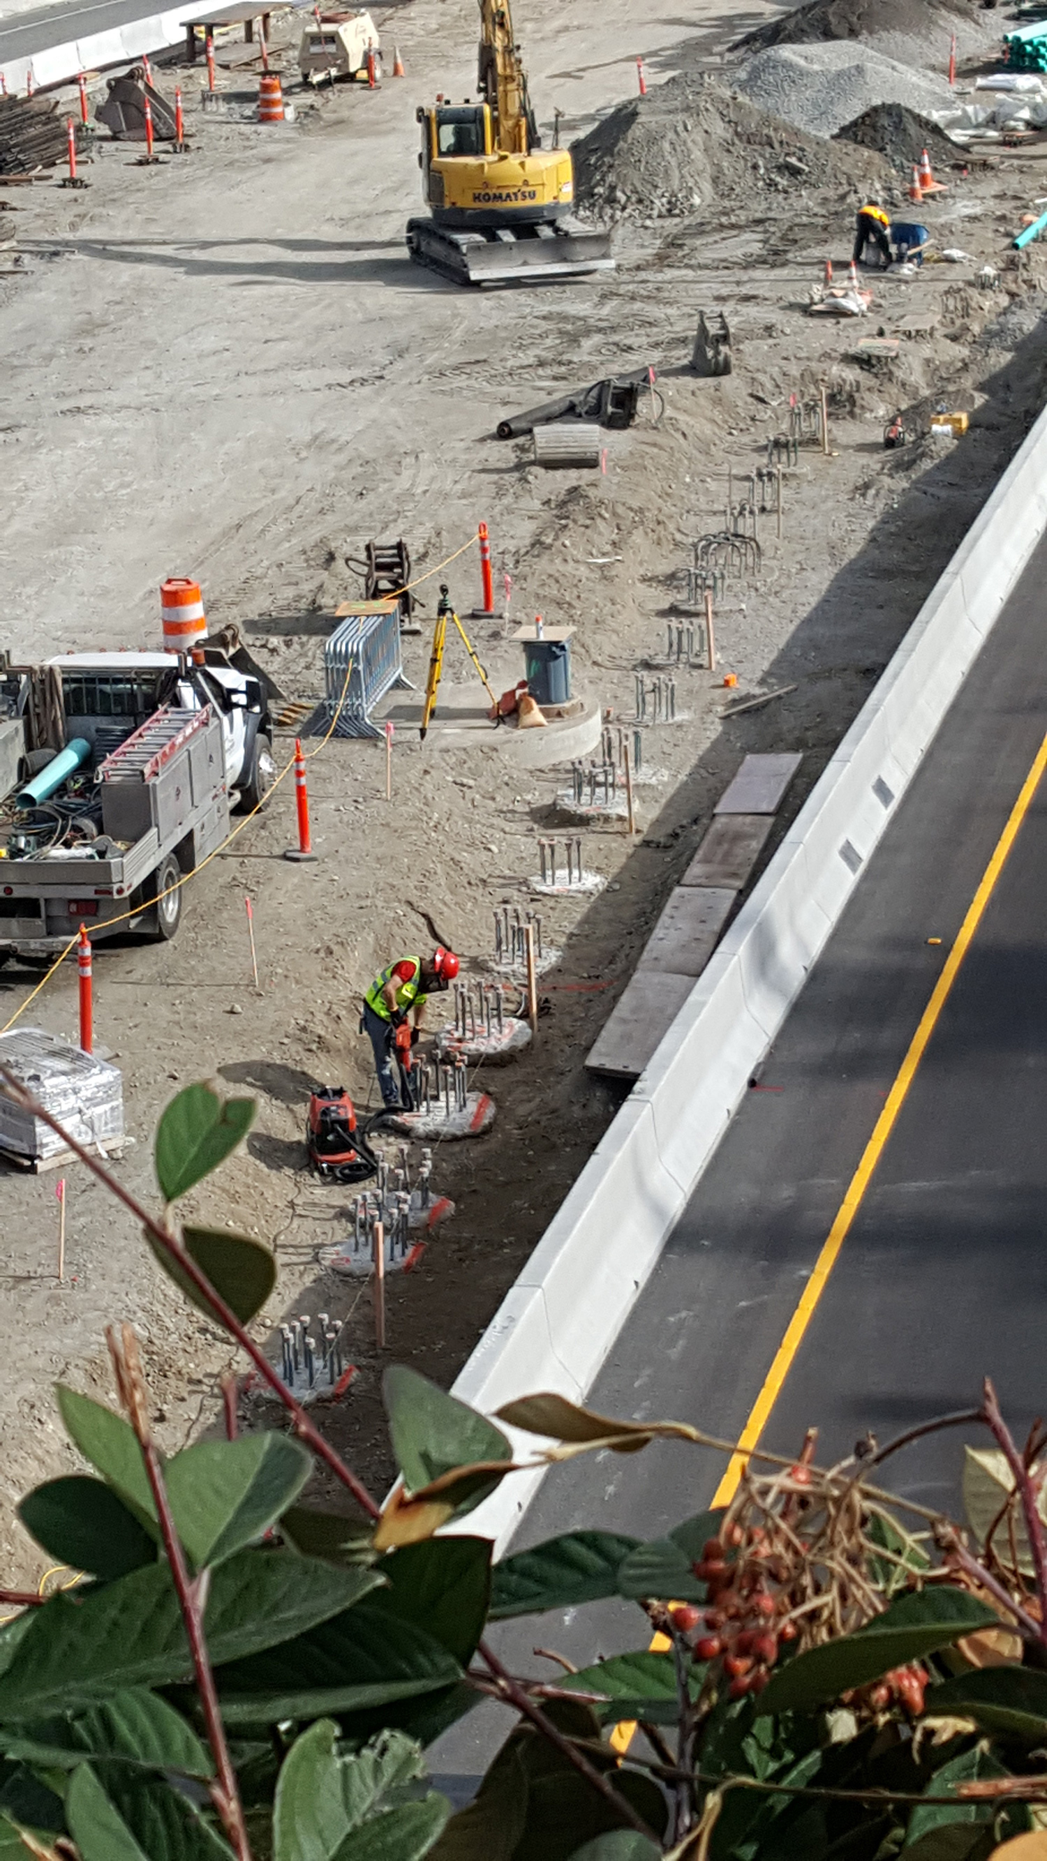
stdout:
[[171,938],[171,886],[274,774],[266,687],[220,646],[0,664],[0,960],[80,923]]

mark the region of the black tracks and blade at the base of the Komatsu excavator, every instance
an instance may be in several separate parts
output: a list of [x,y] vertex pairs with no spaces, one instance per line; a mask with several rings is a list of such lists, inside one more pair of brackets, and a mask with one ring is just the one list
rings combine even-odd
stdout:
[[578,221],[455,233],[434,220],[408,220],[408,251],[456,285],[544,285],[613,272],[611,234]]

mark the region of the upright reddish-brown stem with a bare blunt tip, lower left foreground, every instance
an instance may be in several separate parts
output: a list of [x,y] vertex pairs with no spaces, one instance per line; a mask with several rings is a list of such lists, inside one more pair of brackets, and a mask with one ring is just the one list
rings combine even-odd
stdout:
[[149,1487],[153,1493],[153,1504],[156,1506],[156,1519],[160,1522],[160,1535],[164,1539],[164,1550],[168,1554],[168,1563],[171,1567],[171,1582],[179,1599],[179,1608],[183,1612],[183,1623],[186,1630],[186,1640],[192,1656],[192,1671],[196,1677],[196,1690],[199,1694],[199,1705],[203,1708],[203,1723],[207,1727],[207,1742],[211,1746],[211,1755],[214,1759],[216,1775],[211,1783],[211,1798],[222,1818],[222,1828],[233,1844],[237,1861],[252,1861],[252,1850],[248,1842],[248,1829],[244,1826],[244,1809],[240,1803],[240,1790],[237,1787],[237,1772],[233,1770],[233,1761],[229,1757],[229,1746],[225,1744],[225,1727],[222,1725],[222,1712],[218,1710],[218,1692],[214,1688],[214,1675],[211,1671],[211,1658],[207,1654],[207,1640],[203,1634],[203,1610],[207,1599],[207,1580],[209,1571],[201,1571],[196,1582],[188,1574],[188,1565],[181,1539],[175,1528],[175,1519],[171,1513],[171,1502],[168,1498],[168,1489],[164,1485],[164,1470],[160,1466],[160,1455],[156,1453],[156,1444],[149,1429],[149,1407],[145,1399],[145,1379],[142,1375],[142,1359],[138,1355],[138,1338],[130,1325],[121,1327],[121,1336],[117,1340],[116,1325],[106,1331],[106,1340],[110,1347],[110,1357],[114,1360],[116,1381],[123,1407],[127,1409],[130,1426],[138,1437],[138,1446],[142,1448],[142,1459],[145,1461],[145,1472],[149,1476]]

